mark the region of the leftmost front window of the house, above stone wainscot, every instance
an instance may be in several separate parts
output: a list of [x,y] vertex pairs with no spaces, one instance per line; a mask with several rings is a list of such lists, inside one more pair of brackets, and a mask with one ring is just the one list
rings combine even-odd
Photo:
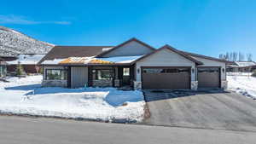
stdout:
[[66,80],[67,70],[60,69],[47,69],[46,70],[46,80]]

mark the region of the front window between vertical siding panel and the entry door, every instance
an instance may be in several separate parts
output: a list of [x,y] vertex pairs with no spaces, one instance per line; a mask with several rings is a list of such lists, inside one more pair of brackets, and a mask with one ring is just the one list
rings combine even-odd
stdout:
[[112,80],[113,79],[113,70],[92,70],[93,72],[93,79],[101,80],[101,79],[107,79]]

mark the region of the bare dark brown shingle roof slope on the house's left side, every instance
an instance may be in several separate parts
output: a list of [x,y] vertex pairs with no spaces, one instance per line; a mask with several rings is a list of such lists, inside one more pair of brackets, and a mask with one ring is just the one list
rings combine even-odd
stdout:
[[41,64],[44,60],[66,59],[68,57],[89,57],[102,54],[103,48],[112,48],[113,46],[55,46],[38,62]]

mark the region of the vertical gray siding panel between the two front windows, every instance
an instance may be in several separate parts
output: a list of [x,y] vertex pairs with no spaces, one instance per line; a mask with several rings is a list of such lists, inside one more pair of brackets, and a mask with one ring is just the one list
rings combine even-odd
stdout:
[[88,67],[72,66],[71,67],[71,88],[81,88],[84,84],[88,85]]

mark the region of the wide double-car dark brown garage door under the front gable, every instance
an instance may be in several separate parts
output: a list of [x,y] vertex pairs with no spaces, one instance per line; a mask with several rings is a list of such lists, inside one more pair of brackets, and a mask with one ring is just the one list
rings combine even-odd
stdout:
[[190,89],[190,67],[143,67],[143,89]]

